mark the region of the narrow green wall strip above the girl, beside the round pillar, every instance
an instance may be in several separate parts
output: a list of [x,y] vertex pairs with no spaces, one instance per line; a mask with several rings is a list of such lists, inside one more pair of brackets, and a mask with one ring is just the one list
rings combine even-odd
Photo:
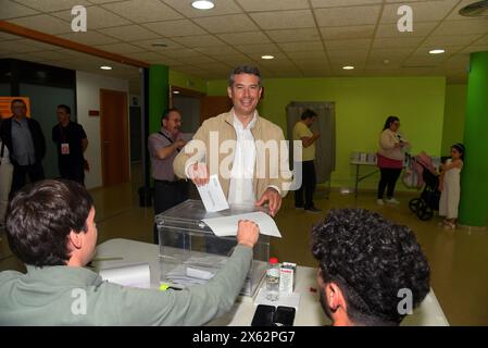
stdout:
[[463,141],[466,116],[467,85],[446,86],[446,107],[442,128],[442,156],[449,156],[455,142]]

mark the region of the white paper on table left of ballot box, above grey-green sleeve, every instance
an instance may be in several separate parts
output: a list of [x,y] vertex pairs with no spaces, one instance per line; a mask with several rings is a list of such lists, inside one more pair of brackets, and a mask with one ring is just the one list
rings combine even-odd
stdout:
[[149,263],[100,270],[99,274],[103,281],[110,283],[140,288],[151,287]]

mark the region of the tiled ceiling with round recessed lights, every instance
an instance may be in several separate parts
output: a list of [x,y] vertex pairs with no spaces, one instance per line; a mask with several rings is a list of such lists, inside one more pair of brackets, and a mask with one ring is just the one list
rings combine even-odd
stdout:
[[[468,53],[488,50],[488,16],[458,14],[474,1],[215,0],[213,10],[199,11],[191,0],[0,0],[0,20],[207,79],[250,63],[265,77],[445,75],[464,82]],[[71,9],[78,4],[87,8],[87,33],[71,30]],[[403,4],[413,9],[413,33],[397,29]],[[434,48],[446,53],[428,54]],[[276,58],[263,61],[263,54]],[[108,63],[4,33],[0,58],[90,72]],[[110,64],[105,74],[138,78],[137,69]]]

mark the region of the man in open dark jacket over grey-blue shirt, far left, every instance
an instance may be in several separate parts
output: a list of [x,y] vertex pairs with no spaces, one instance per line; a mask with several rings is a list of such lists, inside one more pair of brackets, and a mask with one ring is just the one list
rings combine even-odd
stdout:
[[25,185],[26,175],[32,183],[43,179],[42,159],[46,139],[36,120],[27,119],[27,105],[22,99],[11,103],[12,117],[2,122],[0,137],[5,142],[13,164],[11,195]]

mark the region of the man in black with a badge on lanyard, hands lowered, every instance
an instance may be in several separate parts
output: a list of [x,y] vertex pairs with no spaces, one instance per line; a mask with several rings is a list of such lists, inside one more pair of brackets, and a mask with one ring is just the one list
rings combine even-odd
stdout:
[[52,127],[52,141],[58,149],[58,166],[62,178],[85,185],[85,159],[83,153],[88,139],[82,125],[70,120],[71,109],[58,105],[58,121]]

